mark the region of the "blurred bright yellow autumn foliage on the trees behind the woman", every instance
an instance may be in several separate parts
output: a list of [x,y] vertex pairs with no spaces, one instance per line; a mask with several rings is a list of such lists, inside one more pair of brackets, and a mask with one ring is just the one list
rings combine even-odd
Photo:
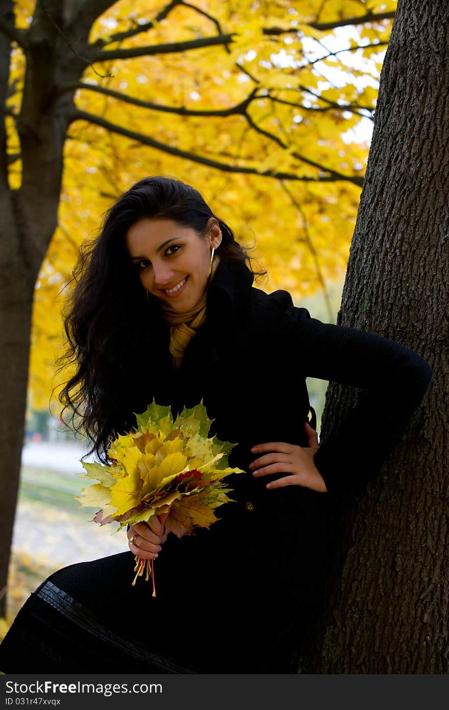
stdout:
[[[16,1],[18,28],[28,28],[34,6],[34,0]],[[90,42],[103,43],[104,61],[86,65],[75,94],[77,108],[92,120],[73,122],[65,142],[58,229],[34,299],[32,408],[48,408],[53,387],[58,391],[53,375],[63,347],[60,307],[78,246],[97,234],[109,204],[146,175],[194,185],[241,244],[256,240],[251,256],[269,270],[262,285],[267,291],[286,288],[299,299],[345,273],[368,153],[351,131],[372,119],[392,23],[382,14],[394,11],[396,2],[202,0],[196,8],[173,6],[156,22],[161,9],[156,0],[119,0],[92,27]],[[381,18],[350,31],[320,28],[368,13]],[[152,26],[140,31],[148,21]],[[220,34],[231,35],[227,44],[142,50],[134,58],[114,54]],[[336,40],[349,51],[332,54]],[[379,48],[362,46],[373,43]],[[7,105],[15,113],[25,72],[23,52],[13,45]],[[9,180],[17,188],[20,146],[10,116],[6,127]],[[182,155],[167,152],[172,149]],[[65,381],[70,371],[64,375]],[[51,407],[58,415],[55,398]]]

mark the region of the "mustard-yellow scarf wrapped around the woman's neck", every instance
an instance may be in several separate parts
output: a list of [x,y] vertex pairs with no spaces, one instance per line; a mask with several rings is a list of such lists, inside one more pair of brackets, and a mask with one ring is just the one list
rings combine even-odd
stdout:
[[[207,288],[214,278],[215,271],[220,263],[220,256],[215,254],[212,260],[212,268],[207,278]],[[170,352],[173,356],[173,366],[175,370],[180,368],[183,361],[185,349],[197,330],[206,321],[206,296],[207,288],[200,300],[188,311],[183,313],[173,310],[169,303],[160,301],[163,320],[170,324]]]

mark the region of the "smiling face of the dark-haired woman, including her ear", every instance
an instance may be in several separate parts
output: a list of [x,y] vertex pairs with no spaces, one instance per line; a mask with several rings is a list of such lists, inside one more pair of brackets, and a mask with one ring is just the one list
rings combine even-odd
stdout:
[[205,293],[212,246],[221,239],[216,219],[207,226],[209,234],[200,237],[172,219],[141,219],[126,232],[126,249],[141,284],[173,310],[190,310]]

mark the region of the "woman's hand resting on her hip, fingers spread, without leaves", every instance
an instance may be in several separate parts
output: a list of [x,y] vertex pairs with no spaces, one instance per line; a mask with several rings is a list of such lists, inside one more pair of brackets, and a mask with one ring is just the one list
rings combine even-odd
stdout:
[[[318,444],[318,434],[308,422],[304,422],[305,432],[308,435],[308,447],[287,444],[286,442],[269,442],[266,444],[256,444],[251,452],[254,454],[264,454],[254,459],[249,468],[253,476],[267,476],[268,474],[286,473],[288,476],[277,479],[267,484],[267,488],[281,488],[282,486],[304,486],[312,491],[327,493],[328,488],[323,476],[313,463],[313,456],[320,448]],[[265,452],[272,452],[267,453]]]

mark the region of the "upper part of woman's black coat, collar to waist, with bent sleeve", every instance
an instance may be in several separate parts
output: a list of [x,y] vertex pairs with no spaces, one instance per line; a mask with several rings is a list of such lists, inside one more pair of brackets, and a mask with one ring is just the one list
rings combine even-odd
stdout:
[[[174,412],[202,397],[208,415],[216,417],[210,435],[239,442],[229,465],[247,468],[254,444],[307,445],[305,378],[362,388],[366,392],[314,461],[330,494],[363,488],[404,434],[431,382],[431,366],[404,345],[311,318],[293,306],[288,291],[267,295],[253,280],[245,266],[220,264],[207,293],[207,322],[178,372],[171,366],[168,336],[161,348],[156,400]],[[239,476],[246,496],[267,502],[276,497],[294,508],[292,498],[301,491],[266,494],[268,481]]]

